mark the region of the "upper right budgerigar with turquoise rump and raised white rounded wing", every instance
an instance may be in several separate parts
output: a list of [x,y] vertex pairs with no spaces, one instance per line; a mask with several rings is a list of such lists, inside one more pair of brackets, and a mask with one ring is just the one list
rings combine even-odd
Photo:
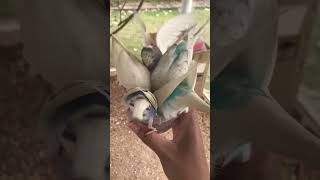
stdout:
[[[189,21],[183,21],[182,17],[189,18]],[[181,22],[185,24],[181,25]],[[157,45],[165,53],[151,73],[152,90],[159,89],[170,79],[181,77],[188,71],[192,62],[194,44],[208,22],[207,20],[200,28],[196,28],[193,17],[185,14],[169,20],[160,28],[157,34]],[[173,30],[174,26],[180,26],[180,28]],[[168,44],[169,42],[172,44]]]

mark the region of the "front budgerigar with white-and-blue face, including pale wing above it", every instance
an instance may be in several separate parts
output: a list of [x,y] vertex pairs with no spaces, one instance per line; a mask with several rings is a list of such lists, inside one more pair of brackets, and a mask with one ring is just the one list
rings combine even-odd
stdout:
[[127,93],[124,104],[129,119],[147,123],[152,127],[157,116],[156,100],[151,89],[150,72],[115,36],[112,37],[111,60],[117,69],[117,78]]

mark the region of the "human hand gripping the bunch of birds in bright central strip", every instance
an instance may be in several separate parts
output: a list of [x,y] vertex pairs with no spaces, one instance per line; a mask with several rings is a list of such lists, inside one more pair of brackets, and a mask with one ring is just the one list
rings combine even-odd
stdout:
[[129,128],[159,157],[170,180],[210,179],[201,132],[193,111],[182,113],[173,123],[173,139],[168,140],[137,121]]

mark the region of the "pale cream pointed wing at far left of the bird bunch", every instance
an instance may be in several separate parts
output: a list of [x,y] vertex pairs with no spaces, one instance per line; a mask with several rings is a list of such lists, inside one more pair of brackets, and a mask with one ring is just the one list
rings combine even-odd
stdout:
[[111,59],[120,84],[127,90],[135,87],[150,89],[150,72],[115,36],[112,36]]

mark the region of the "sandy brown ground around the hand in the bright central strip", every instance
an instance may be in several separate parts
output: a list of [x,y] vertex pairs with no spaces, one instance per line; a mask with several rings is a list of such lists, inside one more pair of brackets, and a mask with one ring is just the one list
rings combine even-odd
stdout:
[[[111,179],[167,179],[157,155],[127,127],[127,116],[121,98],[125,90],[116,78],[110,81],[110,177]],[[210,116],[197,112],[209,164]],[[172,137],[171,130],[164,133]]]

